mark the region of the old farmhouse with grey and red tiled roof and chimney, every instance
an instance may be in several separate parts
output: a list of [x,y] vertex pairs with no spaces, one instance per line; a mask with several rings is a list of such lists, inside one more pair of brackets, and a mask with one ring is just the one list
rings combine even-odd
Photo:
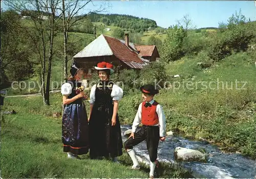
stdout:
[[139,46],[129,42],[129,34],[125,34],[125,40],[101,34],[73,56],[73,60],[85,69],[87,77],[100,61],[110,62],[120,70],[140,70],[156,58],[159,58],[156,46]]

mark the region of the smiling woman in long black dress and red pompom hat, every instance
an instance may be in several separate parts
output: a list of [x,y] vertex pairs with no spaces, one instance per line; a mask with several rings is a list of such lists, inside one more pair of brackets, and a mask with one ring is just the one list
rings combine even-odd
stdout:
[[117,110],[123,90],[110,81],[110,75],[114,73],[112,68],[113,65],[106,62],[95,66],[100,82],[92,86],[89,100],[90,158],[111,156],[118,163],[117,156],[122,155],[123,145]]

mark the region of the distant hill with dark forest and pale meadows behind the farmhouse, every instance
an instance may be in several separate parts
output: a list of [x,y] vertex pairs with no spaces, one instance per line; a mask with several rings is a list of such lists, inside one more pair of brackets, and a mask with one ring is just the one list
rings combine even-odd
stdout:
[[[75,19],[79,17],[80,16],[76,16]],[[24,23],[26,23],[28,26],[33,26],[31,20],[26,19],[24,20]],[[61,21],[59,21],[59,23],[61,23]],[[122,33],[129,33],[131,42],[138,44],[148,44],[148,40],[152,36],[161,41],[163,41],[166,37],[166,29],[157,26],[156,21],[121,14],[89,14],[87,17],[84,17],[74,26],[72,26],[69,29],[69,32],[80,33],[80,35],[84,34],[84,37],[87,37],[87,34],[94,34],[94,26],[96,28],[96,36],[104,34],[123,39],[122,36],[115,35],[114,31],[119,30]],[[189,34],[197,33],[197,35],[199,35],[201,34],[202,30],[206,30],[207,32],[215,32],[216,28],[207,27],[197,30],[189,30]]]

